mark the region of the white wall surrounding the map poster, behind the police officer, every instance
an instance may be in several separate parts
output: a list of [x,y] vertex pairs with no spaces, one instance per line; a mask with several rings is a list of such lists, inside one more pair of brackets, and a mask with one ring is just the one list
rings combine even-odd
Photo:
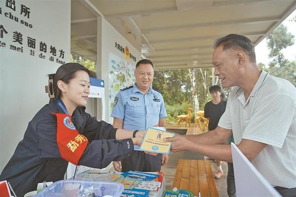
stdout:
[[[97,49],[97,70],[98,70],[98,78],[105,80],[105,100],[106,100],[106,120],[108,120],[109,117],[109,52],[117,55],[123,60],[125,59],[125,56],[122,52],[120,52],[118,49],[116,49],[115,42],[119,43],[121,46],[129,47],[129,51],[131,54],[133,54],[137,58],[137,62],[141,60],[141,52],[136,49],[133,45],[131,45],[120,33],[118,33],[108,21],[102,18],[98,18],[98,35],[101,36],[101,43],[98,40],[98,49]],[[98,37],[98,39],[99,39]],[[139,45],[139,49],[141,46]],[[101,61],[100,61],[101,60]],[[135,65],[137,62],[134,62],[133,60],[129,59],[126,60],[129,64]]]

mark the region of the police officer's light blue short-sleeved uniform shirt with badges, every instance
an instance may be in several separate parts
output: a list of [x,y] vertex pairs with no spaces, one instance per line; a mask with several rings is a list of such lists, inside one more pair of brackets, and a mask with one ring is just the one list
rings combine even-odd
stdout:
[[117,93],[111,117],[123,120],[123,129],[147,130],[167,117],[161,94],[152,88],[144,95],[136,86]]

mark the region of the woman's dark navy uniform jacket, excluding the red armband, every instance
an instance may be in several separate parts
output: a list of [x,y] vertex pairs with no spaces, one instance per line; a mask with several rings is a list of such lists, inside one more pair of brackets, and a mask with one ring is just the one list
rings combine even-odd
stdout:
[[[29,122],[23,140],[0,175],[0,180],[9,181],[19,197],[36,190],[39,182],[64,179],[68,162],[59,153],[57,121],[52,112],[64,113],[55,101],[42,107]],[[117,129],[91,117],[85,107],[74,110],[72,122],[89,141],[78,164],[103,168],[112,161],[129,157],[134,151],[131,139],[116,140]]]

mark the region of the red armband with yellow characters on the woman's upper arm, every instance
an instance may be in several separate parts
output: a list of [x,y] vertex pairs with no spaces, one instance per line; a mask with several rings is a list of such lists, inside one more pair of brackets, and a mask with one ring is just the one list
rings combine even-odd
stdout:
[[77,165],[88,144],[87,138],[79,134],[69,114],[53,113],[57,116],[57,144],[61,157]]

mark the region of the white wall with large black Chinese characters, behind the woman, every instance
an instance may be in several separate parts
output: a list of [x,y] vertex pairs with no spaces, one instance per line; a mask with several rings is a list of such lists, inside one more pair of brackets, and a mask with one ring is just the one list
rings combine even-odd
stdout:
[[[0,47],[0,172],[12,156],[18,142],[37,111],[48,103],[44,85],[47,84],[47,74],[54,73],[61,64],[56,63],[62,49],[65,51],[62,62],[70,60],[70,0],[16,0],[15,11],[5,6],[6,0],[0,0],[0,25],[3,33]],[[30,8],[30,18],[21,15],[21,4]],[[5,12],[18,18],[18,22],[5,16]],[[9,15],[8,15],[9,16]],[[28,22],[32,28],[21,24]],[[23,34],[23,44],[13,42],[13,32]],[[27,36],[36,39],[36,48],[28,47]],[[39,42],[47,44],[45,59],[38,57]],[[10,49],[10,44],[23,47],[23,52]],[[0,43],[1,45],[1,43]],[[57,53],[54,62],[49,61],[50,45],[55,46]],[[30,55],[30,49],[35,56]]]

